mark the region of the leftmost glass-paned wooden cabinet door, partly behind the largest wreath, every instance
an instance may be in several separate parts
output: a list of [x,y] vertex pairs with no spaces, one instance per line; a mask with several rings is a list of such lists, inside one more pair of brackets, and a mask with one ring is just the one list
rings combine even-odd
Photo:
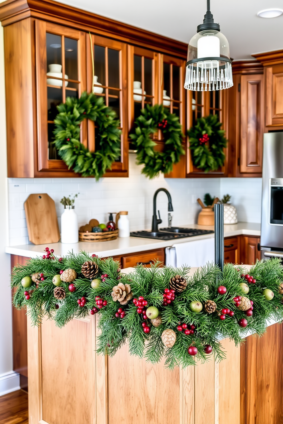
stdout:
[[[70,172],[53,144],[56,106],[86,89],[85,34],[71,28],[36,21],[36,88],[39,171]],[[86,144],[86,125],[81,142]]]

